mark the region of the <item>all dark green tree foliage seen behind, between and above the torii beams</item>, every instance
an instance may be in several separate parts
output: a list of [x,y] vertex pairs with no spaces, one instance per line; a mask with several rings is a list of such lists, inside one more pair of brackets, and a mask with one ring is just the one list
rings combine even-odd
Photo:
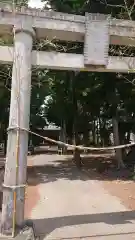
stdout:
[[[100,12],[113,17],[134,19],[134,2],[125,0],[50,0],[46,1],[53,10],[82,14],[85,12]],[[129,4],[130,3],[130,4]],[[27,1],[17,1],[24,5]],[[7,41],[7,42],[6,42]],[[11,40],[2,40],[0,44],[9,44]],[[35,43],[38,50],[55,50],[64,52],[83,52],[81,44],[61,43],[59,41],[44,41]],[[126,50],[126,51],[125,51]],[[132,49],[124,49],[126,54],[132,54]],[[112,47],[111,54],[120,54],[121,48]],[[130,52],[131,51],[131,52]],[[0,82],[4,86],[0,90],[0,124],[8,125],[11,68],[1,66]],[[6,76],[6,77],[5,77]],[[8,76],[8,77],[7,77]],[[5,80],[4,80],[5,79]],[[7,79],[9,79],[7,83]],[[48,102],[42,107],[44,99]],[[67,136],[70,139],[81,135],[83,143],[99,142],[109,144],[109,134],[112,132],[111,119],[117,115],[120,122],[120,135],[123,141],[126,132],[135,131],[135,84],[133,74],[88,73],[47,71],[33,69],[30,125],[33,131],[43,128],[47,121],[61,126],[66,124]],[[46,121],[47,119],[47,121]],[[5,127],[4,127],[5,129]],[[92,132],[92,137],[88,136]],[[100,141],[99,139],[100,138]],[[76,142],[78,139],[76,140]],[[39,139],[34,138],[35,144]]]

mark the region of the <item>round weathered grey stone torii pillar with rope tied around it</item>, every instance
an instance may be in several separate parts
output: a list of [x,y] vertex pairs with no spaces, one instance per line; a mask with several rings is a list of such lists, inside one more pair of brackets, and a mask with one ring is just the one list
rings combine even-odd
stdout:
[[[1,232],[6,235],[11,234],[13,230],[15,210],[13,186],[16,185],[18,185],[18,187],[16,188],[17,204],[15,223],[16,225],[21,225],[24,220],[28,132],[23,129],[29,129],[31,53],[33,37],[35,36],[31,23],[28,24],[27,22],[26,24],[25,20],[21,22],[21,24],[15,25],[14,33],[14,60],[1,225]],[[19,149],[17,148],[17,134],[19,135]]]

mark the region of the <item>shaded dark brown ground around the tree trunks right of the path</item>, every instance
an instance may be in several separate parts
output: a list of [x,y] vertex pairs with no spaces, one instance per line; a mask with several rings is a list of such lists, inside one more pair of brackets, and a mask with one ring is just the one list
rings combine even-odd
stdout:
[[89,155],[82,158],[82,169],[90,178],[102,181],[132,180],[133,171],[129,168],[118,169],[113,155]]

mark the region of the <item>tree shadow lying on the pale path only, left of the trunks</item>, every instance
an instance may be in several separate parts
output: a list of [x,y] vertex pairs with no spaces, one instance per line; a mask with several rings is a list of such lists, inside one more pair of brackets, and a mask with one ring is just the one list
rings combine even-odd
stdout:
[[58,179],[89,180],[89,177],[82,174],[71,159],[51,162],[51,164],[30,166],[27,168],[28,184],[37,185],[40,183],[54,182]]

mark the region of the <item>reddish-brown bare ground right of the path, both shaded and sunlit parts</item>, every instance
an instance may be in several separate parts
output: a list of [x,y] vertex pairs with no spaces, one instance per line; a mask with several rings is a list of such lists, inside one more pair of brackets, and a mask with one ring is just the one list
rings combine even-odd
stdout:
[[114,157],[109,154],[94,154],[83,157],[83,169],[90,178],[100,180],[111,195],[121,199],[129,209],[135,210],[135,181],[132,173],[118,170]]

